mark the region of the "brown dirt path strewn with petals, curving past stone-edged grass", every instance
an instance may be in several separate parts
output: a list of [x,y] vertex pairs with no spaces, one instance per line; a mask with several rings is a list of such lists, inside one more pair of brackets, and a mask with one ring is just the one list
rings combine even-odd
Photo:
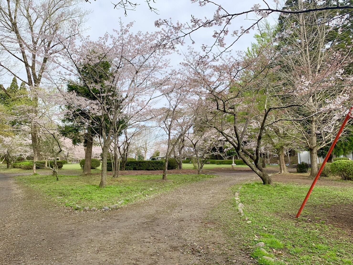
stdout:
[[221,174],[106,213],[48,208],[0,175],[0,264],[249,264],[206,218],[255,174]]

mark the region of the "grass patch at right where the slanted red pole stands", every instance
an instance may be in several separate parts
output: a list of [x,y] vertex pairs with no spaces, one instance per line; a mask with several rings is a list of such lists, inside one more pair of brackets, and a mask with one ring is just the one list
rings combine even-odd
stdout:
[[[234,194],[238,188],[233,187]],[[258,264],[353,264],[351,224],[346,223],[348,230],[343,224],[342,230],[342,224],[327,216],[330,209],[353,203],[353,188],[316,186],[301,217],[294,219],[308,189],[307,185],[244,184],[239,195],[244,216],[240,216],[234,198],[212,214],[231,245],[237,249],[242,246]],[[255,247],[258,242],[265,243],[268,254]],[[262,258],[264,255],[275,258],[275,262]]]

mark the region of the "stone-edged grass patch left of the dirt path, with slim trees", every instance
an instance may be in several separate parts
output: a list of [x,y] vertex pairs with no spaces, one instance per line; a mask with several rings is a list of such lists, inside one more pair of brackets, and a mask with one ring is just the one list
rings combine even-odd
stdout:
[[183,184],[212,177],[215,176],[168,175],[168,180],[162,181],[161,175],[120,176],[109,178],[107,187],[103,189],[97,185],[100,182],[100,175],[59,176],[59,181],[43,175],[18,176],[17,179],[47,195],[55,204],[72,207],[76,207],[77,204],[81,208],[88,206],[100,209],[103,206],[133,203]]

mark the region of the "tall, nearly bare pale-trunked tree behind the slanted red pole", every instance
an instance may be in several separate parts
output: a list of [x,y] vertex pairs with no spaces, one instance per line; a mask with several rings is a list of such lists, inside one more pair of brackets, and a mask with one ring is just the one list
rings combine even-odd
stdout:
[[318,171],[318,150],[333,141],[353,99],[348,70],[351,47],[339,49],[339,34],[319,23],[330,17],[328,12],[291,14],[282,23],[282,30],[289,34],[279,42],[281,76],[286,82],[282,102],[301,102],[284,114],[283,119],[292,120],[286,123],[286,133],[310,152],[311,177]]

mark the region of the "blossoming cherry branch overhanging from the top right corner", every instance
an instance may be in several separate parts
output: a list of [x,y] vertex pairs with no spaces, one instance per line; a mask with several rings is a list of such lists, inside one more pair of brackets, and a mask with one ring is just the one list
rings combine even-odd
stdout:
[[[158,19],[155,21],[155,26],[166,29],[166,36],[169,37],[166,43],[172,43],[174,46],[184,45],[185,39],[190,38],[194,44],[197,40],[193,39],[193,34],[196,31],[204,28],[214,28],[213,41],[210,45],[203,44],[202,48],[207,54],[214,53],[217,57],[219,53],[223,53],[231,49],[244,34],[249,34],[251,30],[258,29],[259,24],[270,15],[279,15],[288,17],[291,14],[307,14],[320,13],[323,11],[337,11],[337,15],[325,17],[318,24],[330,24],[334,26],[344,25],[346,18],[350,15],[352,6],[349,2],[344,1],[305,1],[299,0],[293,2],[292,5],[283,7],[282,1],[261,1],[249,7],[248,10],[229,10],[217,1],[211,0],[191,0],[200,7],[213,5],[215,12],[205,15],[203,18],[198,18],[191,15],[190,22],[173,22],[172,19]],[[299,5],[296,5],[299,3]],[[232,5],[233,7],[233,5]],[[335,12],[332,12],[335,13]],[[252,16],[253,19],[249,19]],[[238,25],[232,22],[243,17],[244,24]],[[247,21],[245,21],[247,19]],[[214,50],[214,51],[213,51]],[[216,51],[215,51],[216,50]],[[221,51],[221,52],[220,52]]]

